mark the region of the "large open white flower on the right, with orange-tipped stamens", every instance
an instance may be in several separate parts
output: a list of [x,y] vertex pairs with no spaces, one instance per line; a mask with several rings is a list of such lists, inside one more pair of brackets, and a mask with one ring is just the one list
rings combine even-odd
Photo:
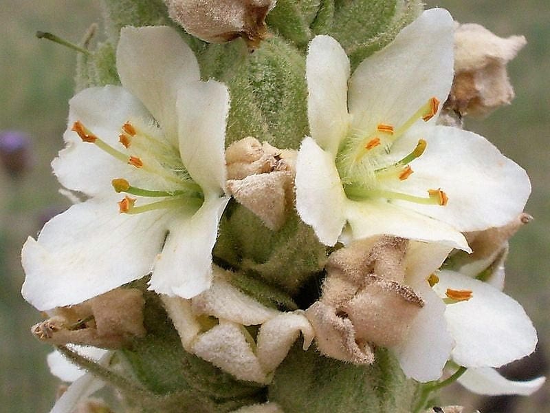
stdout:
[[525,171],[485,138],[436,125],[452,84],[453,28],[447,11],[427,10],[351,77],[337,41],[311,42],[312,138],[298,153],[296,207],[324,244],[386,233],[468,251],[462,231],[522,211]]

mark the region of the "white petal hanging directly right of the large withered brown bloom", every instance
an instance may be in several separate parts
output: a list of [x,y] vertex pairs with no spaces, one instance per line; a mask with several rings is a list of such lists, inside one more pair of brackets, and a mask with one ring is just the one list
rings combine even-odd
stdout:
[[406,376],[421,382],[437,380],[454,345],[447,330],[445,304],[426,281],[411,287],[423,299],[424,306],[412,322],[406,340],[393,350]]

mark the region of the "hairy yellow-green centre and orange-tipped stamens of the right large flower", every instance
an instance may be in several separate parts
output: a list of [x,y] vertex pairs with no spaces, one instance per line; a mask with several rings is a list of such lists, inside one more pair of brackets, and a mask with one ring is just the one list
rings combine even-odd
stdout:
[[402,158],[392,153],[395,142],[418,120],[428,122],[437,114],[439,100],[433,97],[422,105],[403,125],[379,123],[375,131],[352,131],[342,142],[336,156],[336,167],[348,198],[364,200],[385,198],[386,200],[406,200],[418,204],[444,206],[448,197],[441,189],[426,189],[428,196],[419,197],[397,191],[384,190],[384,181],[408,179],[414,172],[410,162],[422,156],[426,150],[426,140],[419,139],[417,146]]

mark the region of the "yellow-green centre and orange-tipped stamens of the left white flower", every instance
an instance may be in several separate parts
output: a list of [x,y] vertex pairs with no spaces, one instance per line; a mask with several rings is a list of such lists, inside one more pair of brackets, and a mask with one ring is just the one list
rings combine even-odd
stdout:
[[120,127],[120,149],[96,136],[80,120],[73,124],[72,131],[75,131],[83,142],[95,145],[118,162],[133,167],[129,169],[129,176],[140,182],[150,182],[155,188],[135,187],[125,178],[113,177],[111,184],[117,193],[123,192],[145,200],[161,198],[155,202],[144,202],[135,206],[137,198],[124,195],[124,199],[118,202],[120,213],[136,214],[178,207],[199,209],[201,206],[204,199],[201,187],[189,176],[181,162],[178,149],[166,142],[159,127],[130,121],[124,123]]

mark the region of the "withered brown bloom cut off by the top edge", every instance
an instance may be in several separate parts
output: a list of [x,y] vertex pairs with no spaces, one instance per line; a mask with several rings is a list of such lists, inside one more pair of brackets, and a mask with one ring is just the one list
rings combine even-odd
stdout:
[[266,38],[265,17],[275,0],[166,0],[170,17],[210,43],[243,37],[249,47]]

